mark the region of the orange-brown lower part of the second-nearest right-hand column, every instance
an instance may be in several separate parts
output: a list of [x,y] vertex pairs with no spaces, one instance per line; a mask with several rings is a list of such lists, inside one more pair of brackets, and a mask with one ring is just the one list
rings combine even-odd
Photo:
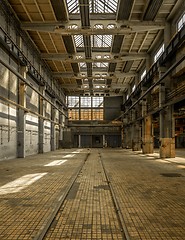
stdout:
[[152,116],[149,115],[144,118],[142,127],[142,150],[143,153],[153,153],[153,127]]

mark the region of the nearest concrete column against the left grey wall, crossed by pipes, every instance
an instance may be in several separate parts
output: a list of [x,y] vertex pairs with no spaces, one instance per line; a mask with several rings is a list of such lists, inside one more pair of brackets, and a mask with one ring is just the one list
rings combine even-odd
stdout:
[[[20,74],[26,78],[27,68],[21,67]],[[18,103],[26,107],[26,85],[21,80],[19,82]],[[26,114],[21,108],[17,111],[17,157],[25,157],[25,131],[26,131]]]

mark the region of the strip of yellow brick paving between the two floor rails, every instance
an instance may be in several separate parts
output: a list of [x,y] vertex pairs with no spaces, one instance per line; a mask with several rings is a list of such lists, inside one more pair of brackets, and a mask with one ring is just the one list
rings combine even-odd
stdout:
[[91,152],[45,239],[123,239],[96,150]]

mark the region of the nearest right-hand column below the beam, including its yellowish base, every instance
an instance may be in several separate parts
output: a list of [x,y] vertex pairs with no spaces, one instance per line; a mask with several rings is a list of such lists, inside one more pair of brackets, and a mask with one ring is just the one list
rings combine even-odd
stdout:
[[160,112],[160,157],[175,157],[175,120],[173,106],[168,106]]

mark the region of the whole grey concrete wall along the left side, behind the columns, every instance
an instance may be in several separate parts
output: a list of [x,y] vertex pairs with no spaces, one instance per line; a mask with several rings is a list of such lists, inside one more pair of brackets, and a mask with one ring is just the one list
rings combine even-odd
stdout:
[[[17,157],[19,152],[18,146],[23,146],[24,156],[38,153],[39,146],[42,144],[39,143],[39,126],[42,125],[39,125],[40,119],[43,120],[44,129],[43,152],[51,151],[53,143],[53,150],[57,149],[59,147],[59,139],[62,138],[62,128],[64,128],[65,122],[65,117],[61,118],[59,111],[56,108],[53,108],[54,110],[51,108],[49,101],[53,102],[59,109],[62,107],[53,100],[52,96],[49,95],[50,93],[47,94],[46,88],[42,93],[46,96],[47,100],[43,101],[43,113],[40,114],[39,106],[41,106],[41,103],[39,94],[27,85],[31,84],[35,89],[41,89],[40,78],[36,79],[30,69],[35,69],[42,76],[46,85],[55,90],[57,95],[61,97],[61,101],[65,101],[65,95],[61,91],[61,88],[59,88],[59,83],[53,81],[50,70],[40,59],[40,55],[30,39],[21,30],[17,30],[19,24],[14,19],[13,14],[9,15],[8,18],[6,14],[6,11],[0,9],[0,40],[2,43],[0,45],[0,58],[5,64],[10,66],[9,70],[3,64],[0,64],[0,160]],[[9,40],[5,41],[7,38]],[[20,50],[24,54],[24,57],[27,58],[27,62],[30,65],[22,66],[18,60],[18,55],[17,58],[15,57],[16,52],[12,54],[15,45],[17,46],[16,49]],[[12,46],[14,47],[12,48]],[[25,109],[22,110],[21,114],[18,114],[21,109],[19,103],[19,84],[23,84],[24,81],[18,79],[17,75],[13,73],[14,70],[19,74],[21,73],[26,81],[25,91],[22,93],[25,100]],[[24,70],[23,73],[22,70]],[[43,118],[39,118],[38,114],[42,115]],[[21,121],[19,121],[20,118]],[[19,139],[21,131],[18,131],[20,123],[25,123],[24,126],[22,124],[23,127],[21,128],[23,133],[21,139]],[[59,127],[59,123],[62,127]],[[52,129],[54,129],[53,136],[51,136]]]

